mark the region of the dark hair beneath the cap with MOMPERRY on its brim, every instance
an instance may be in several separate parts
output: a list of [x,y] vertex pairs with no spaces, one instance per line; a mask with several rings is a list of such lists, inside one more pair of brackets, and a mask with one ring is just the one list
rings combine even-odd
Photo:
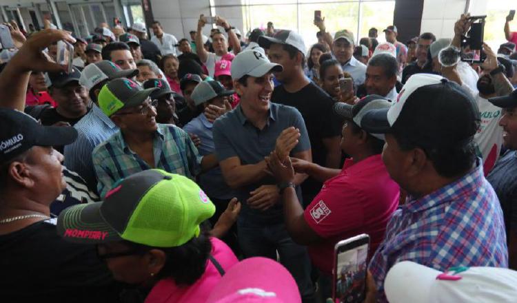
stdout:
[[205,232],[190,239],[179,247],[148,247],[147,245],[123,241],[136,251],[159,249],[165,252],[165,264],[156,273],[156,279],[172,278],[178,285],[192,285],[205,273],[208,256],[212,251],[212,243]]

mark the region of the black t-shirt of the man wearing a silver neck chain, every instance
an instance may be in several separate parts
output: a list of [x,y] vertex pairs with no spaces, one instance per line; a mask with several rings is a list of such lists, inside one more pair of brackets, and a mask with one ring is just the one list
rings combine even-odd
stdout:
[[118,302],[120,285],[93,245],[57,235],[56,219],[0,236],[2,302]]

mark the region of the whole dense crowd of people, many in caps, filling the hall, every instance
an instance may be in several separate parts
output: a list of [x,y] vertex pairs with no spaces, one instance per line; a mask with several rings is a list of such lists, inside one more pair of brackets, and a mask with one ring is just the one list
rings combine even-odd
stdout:
[[242,36],[213,18],[210,37],[201,15],[180,40],[159,21],[151,39],[143,23],[88,37],[7,24],[6,302],[324,302],[336,243],[361,233],[366,302],[420,302],[408,292],[435,278],[478,291],[454,302],[515,300],[511,18],[480,63],[460,60],[468,14],[453,39],[406,43],[396,25],[356,41],[318,18],[310,48],[272,22]]

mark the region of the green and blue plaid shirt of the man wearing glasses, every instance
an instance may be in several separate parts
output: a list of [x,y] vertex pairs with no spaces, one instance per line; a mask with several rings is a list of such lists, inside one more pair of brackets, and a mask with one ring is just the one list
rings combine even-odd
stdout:
[[[152,149],[155,168],[188,178],[201,172],[202,157],[190,136],[179,127],[159,124]],[[105,196],[117,180],[152,168],[130,149],[121,131],[95,147],[92,158],[101,197]]]

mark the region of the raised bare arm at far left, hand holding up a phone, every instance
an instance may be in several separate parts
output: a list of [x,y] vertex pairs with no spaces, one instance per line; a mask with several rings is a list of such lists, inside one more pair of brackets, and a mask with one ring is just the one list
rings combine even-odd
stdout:
[[48,56],[43,54],[43,49],[59,40],[75,43],[75,39],[64,30],[42,30],[23,43],[17,54],[0,73],[0,92],[2,92],[0,106],[23,111],[30,72],[32,70],[57,72],[65,68],[50,61]]

